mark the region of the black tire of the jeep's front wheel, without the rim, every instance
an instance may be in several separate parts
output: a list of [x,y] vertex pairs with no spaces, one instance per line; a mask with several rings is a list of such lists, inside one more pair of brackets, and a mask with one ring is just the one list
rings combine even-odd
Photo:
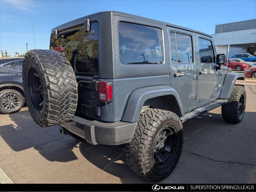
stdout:
[[[238,110],[239,102],[244,100],[242,112]],[[225,122],[237,124],[244,118],[244,111],[246,107],[246,91],[244,86],[235,85],[227,103],[221,107],[221,115]]]

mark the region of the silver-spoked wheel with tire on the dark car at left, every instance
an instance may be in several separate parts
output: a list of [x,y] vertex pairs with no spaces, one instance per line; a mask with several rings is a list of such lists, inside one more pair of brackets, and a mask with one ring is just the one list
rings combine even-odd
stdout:
[[23,95],[13,89],[5,89],[0,92],[0,112],[10,114],[18,112],[24,105]]

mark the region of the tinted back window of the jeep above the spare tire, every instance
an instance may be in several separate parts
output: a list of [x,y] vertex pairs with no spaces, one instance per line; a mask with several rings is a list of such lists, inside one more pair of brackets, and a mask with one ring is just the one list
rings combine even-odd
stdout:
[[62,46],[75,73],[98,73],[98,23],[91,23],[90,32],[84,25],[51,36],[51,49]]

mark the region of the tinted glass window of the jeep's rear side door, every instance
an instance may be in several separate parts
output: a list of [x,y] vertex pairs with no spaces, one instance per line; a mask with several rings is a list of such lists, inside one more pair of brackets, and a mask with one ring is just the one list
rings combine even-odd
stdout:
[[173,63],[193,63],[192,38],[189,35],[171,32],[171,57]]

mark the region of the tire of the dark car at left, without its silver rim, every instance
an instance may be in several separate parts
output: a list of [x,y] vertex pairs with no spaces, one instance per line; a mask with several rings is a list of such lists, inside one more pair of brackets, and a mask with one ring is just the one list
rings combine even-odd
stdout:
[[[4,108],[4,106],[2,106],[2,99],[4,96],[8,96],[9,94],[15,94],[17,98],[19,98],[19,104],[17,105],[17,108],[13,109],[13,110],[6,110]],[[23,95],[18,92],[17,90],[14,90],[14,89],[5,89],[5,90],[2,90],[0,91],[0,112],[3,113],[3,114],[11,114],[11,113],[16,113],[18,111],[20,111],[20,109],[23,107],[24,105],[24,97]]]

